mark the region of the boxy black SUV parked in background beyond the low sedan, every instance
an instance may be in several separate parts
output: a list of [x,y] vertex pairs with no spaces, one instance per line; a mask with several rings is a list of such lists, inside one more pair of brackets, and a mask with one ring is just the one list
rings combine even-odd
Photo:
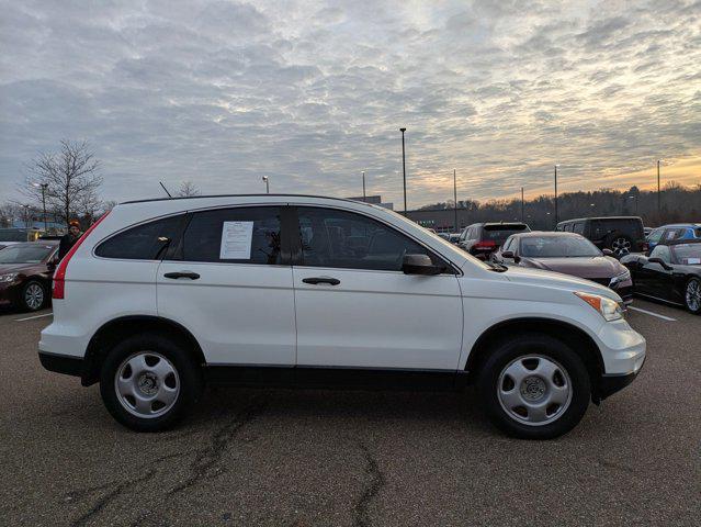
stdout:
[[643,220],[637,216],[579,217],[559,222],[555,231],[581,234],[600,249],[611,249],[618,257],[647,250]]

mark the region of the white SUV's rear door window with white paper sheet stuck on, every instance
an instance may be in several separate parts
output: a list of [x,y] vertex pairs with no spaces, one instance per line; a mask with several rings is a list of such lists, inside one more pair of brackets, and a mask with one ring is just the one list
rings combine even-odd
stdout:
[[247,206],[195,212],[182,237],[182,259],[276,265],[280,208]]

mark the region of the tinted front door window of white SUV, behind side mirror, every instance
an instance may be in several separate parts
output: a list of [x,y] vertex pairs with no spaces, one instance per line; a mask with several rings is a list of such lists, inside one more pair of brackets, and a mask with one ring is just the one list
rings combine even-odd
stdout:
[[381,222],[333,209],[298,208],[302,265],[400,271],[405,255],[428,255],[423,246]]

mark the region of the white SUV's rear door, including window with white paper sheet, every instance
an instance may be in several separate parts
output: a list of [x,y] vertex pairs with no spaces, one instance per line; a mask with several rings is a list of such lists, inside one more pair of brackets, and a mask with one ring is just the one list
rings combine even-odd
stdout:
[[157,277],[158,314],[179,322],[210,365],[294,366],[292,267],[282,205],[193,212]]

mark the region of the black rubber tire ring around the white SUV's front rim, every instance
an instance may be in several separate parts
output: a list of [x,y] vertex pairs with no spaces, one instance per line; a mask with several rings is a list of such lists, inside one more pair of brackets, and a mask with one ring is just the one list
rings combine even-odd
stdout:
[[[555,421],[540,425],[517,421],[505,410],[498,394],[501,373],[519,358],[530,356],[539,356],[552,361],[564,369],[569,378],[568,405],[562,405],[562,414]],[[532,377],[529,377],[525,382],[531,379]],[[497,344],[479,369],[477,386],[483,407],[491,423],[509,436],[520,439],[553,439],[568,433],[579,423],[591,399],[591,381],[581,358],[561,340],[538,334],[521,334]],[[528,384],[521,384],[521,386],[528,386]],[[520,390],[519,386],[513,389]],[[508,386],[507,390],[509,390]],[[555,415],[556,412],[553,413],[553,417]]]

